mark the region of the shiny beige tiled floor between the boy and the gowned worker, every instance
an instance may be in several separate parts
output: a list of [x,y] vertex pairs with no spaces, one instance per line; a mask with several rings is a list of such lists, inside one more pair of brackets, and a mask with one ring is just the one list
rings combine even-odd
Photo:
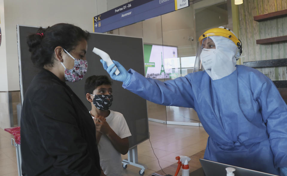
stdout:
[[[202,127],[166,125],[149,122],[150,141],[162,168],[176,163],[179,155],[191,156],[206,147],[208,135]],[[152,151],[149,140],[138,145],[138,162],[146,164],[144,175],[160,170],[158,160]],[[122,155],[126,159],[126,155]],[[139,168],[128,165],[126,176],[138,175]]]

